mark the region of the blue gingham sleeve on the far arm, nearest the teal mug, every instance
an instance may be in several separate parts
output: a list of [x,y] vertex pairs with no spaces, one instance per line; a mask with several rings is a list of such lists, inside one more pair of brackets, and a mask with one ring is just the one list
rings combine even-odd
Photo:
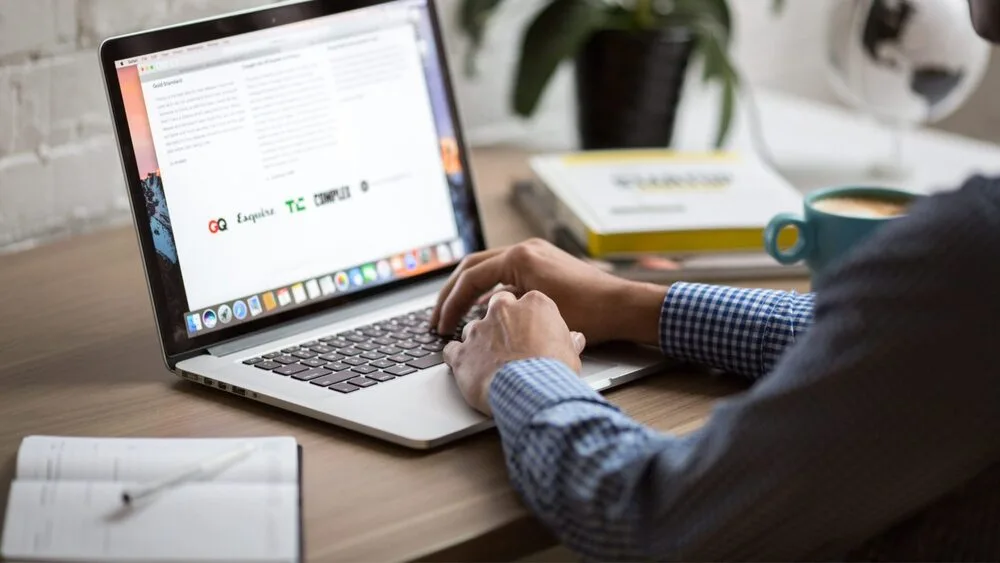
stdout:
[[675,283],[659,342],[672,358],[758,379],[812,325],[813,294]]

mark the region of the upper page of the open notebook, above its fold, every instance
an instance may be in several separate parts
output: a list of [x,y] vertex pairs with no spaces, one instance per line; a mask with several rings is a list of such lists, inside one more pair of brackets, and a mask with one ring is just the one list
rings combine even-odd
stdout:
[[29,436],[17,453],[18,480],[148,482],[207,458],[254,444],[215,482],[297,483],[295,438],[75,438]]

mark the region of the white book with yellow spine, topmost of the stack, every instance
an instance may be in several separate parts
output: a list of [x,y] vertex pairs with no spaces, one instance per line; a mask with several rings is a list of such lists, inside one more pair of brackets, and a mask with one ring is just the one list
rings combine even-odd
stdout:
[[[762,251],[774,215],[802,196],[752,154],[609,150],[539,155],[556,221],[595,258]],[[783,245],[795,241],[782,233]]]

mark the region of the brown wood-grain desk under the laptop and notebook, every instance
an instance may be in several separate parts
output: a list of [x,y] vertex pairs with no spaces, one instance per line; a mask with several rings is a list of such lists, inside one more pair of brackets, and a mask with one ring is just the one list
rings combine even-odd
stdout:
[[[490,243],[529,236],[505,200],[523,155],[484,150],[474,162]],[[644,423],[686,432],[735,389],[665,374],[609,396]],[[510,489],[494,431],[414,452],[171,375],[130,228],[0,257],[0,506],[28,434],[294,435],[308,561],[503,560],[552,543]]]

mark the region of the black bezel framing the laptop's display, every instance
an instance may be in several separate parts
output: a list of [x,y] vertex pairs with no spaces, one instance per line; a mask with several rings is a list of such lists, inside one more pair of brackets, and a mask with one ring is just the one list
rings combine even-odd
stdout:
[[[420,275],[376,285],[369,289],[334,296],[275,315],[269,315],[253,322],[234,325],[225,330],[210,332],[194,338],[182,337],[175,339],[173,334],[176,326],[170,318],[164,282],[156,262],[153,234],[148,228],[151,218],[146,210],[145,197],[139,181],[135,150],[132,145],[128,120],[125,115],[125,105],[118,82],[118,69],[115,62],[396,1],[398,0],[309,0],[293,4],[279,4],[253,11],[237,12],[217,18],[114,37],[101,44],[101,68],[104,75],[112,121],[114,122],[115,135],[118,140],[119,154],[122,160],[123,173],[132,209],[132,218],[142,253],[146,282],[150,292],[150,300],[153,306],[154,320],[160,338],[160,345],[164,361],[169,368],[173,369],[173,366],[177,362],[203,353],[206,348],[211,346],[261,330],[286,325],[301,320],[304,317],[342,307],[348,303],[371,299],[388,291],[424,282],[429,278],[447,275],[454,270],[457,264],[443,266]],[[458,115],[451,80],[451,70],[445,54],[444,38],[441,33],[436,1],[426,1],[431,20],[431,29],[433,30],[434,41],[437,46],[438,64],[442,70],[441,74],[444,80],[448,111],[452,120],[455,141],[458,145],[458,158],[462,166],[462,177],[464,180],[463,187],[467,192],[465,195],[469,201],[469,220],[472,225],[474,244],[468,251],[476,252],[485,248],[485,241],[473,175],[469,167],[468,149],[465,143],[461,120]],[[181,266],[183,267],[183,264]],[[181,322],[183,322],[183,318]]]

